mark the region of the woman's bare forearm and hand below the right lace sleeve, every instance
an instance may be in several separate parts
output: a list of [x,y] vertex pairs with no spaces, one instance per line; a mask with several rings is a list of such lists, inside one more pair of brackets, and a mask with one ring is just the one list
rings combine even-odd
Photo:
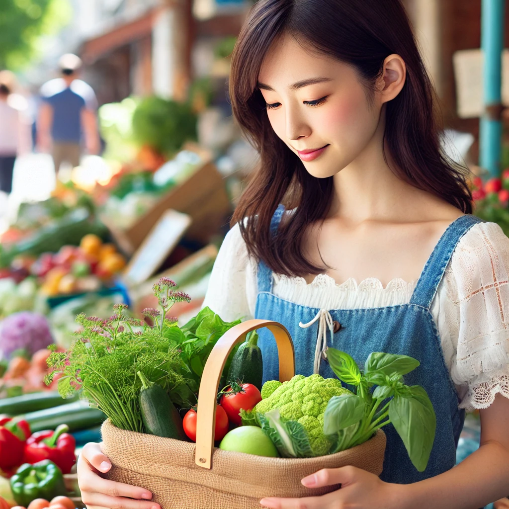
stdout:
[[382,482],[355,467],[331,468],[302,479],[307,487],[342,484],[321,497],[264,498],[272,509],[476,509],[509,494],[509,400],[497,394],[480,411],[480,447],[443,474],[409,485]]

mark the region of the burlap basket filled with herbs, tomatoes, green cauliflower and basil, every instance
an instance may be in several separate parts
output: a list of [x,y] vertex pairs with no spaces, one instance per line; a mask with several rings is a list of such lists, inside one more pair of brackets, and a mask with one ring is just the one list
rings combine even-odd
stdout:
[[[62,395],[79,388],[108,416],[110,479],[150,490],[163,509],[251,509],[267,496],[322,495],[338,486],[309,489],[300,479],[346,465],[380,475],[380,428],[389,423],[415,467],[426,468],[435,414],[426,391],[403,379],[417,360],[374,352],[361,370],[330,348],[337,378],[295,375],[282,324],[228,323],[204,308],[178,326],[169,308],[189,296],[174,286],[166,278],[154,286],[162,311],[145,310],[148,325],[139,327],[123,305],[109,320],[81,316],[71,349],[50,357],[52,373],[63,373]],[[279,380],[263,386],[262,327],[279,354]]]

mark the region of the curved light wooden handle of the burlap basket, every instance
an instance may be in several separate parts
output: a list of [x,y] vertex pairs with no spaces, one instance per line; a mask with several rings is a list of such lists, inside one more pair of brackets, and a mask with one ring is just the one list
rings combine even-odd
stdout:
[[210,352],[200,382],[196,417],[196,455],[194,458],[196,465],[200,467],[212,468],[216,399],[224,364],[235,345],[245,341],[248,332],[262,327],[267,327],[274,334],[276,340],[279,356],[279,380],[285,382],[295,375],[295,352],[292,337],[284,325],[271,320],[247,320],[225,332]]

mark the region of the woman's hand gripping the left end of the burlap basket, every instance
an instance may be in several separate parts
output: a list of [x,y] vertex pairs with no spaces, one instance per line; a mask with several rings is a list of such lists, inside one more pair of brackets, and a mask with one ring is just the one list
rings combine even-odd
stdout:
[[144,488],[107,480],[99,474],[106,473],[111,463],[101,453],[97,443],[88,443],[78,458],[78,485],[81,500],[88,509],[161,509],[151,502],[152,493]]

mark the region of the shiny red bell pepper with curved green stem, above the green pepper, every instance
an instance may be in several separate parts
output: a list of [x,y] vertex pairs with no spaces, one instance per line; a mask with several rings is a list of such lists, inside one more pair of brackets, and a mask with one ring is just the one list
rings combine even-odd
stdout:
[[69,426],[61,424],[55,431],[38,431],[26,440],[25,462],[37,463],[42,460],[51,460],[68,474],[71,467],[76,463],[74,449],[76,440],[72,435],[66,433]]

